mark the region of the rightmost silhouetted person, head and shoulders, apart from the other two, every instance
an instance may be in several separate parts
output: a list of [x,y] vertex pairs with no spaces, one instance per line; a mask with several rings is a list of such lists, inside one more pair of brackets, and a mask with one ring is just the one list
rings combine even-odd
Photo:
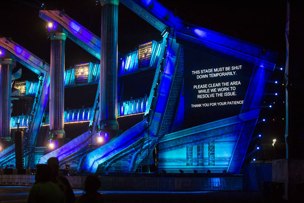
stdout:
[[98,192],[100,185],[100,180],[97,175],[87,176],[84,189],[86,193],[77,198],[75,203],[103,203],[103,197]]

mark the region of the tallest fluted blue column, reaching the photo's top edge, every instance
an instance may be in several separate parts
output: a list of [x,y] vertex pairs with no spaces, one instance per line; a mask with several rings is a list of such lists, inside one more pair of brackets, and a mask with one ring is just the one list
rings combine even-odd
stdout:
[[[117,19],[119,0],[100,0],[100,129],[115,131],[117,122]],[[109,131],[109,132],[110,132]],[[110,132],[110,136],[113,132]]]

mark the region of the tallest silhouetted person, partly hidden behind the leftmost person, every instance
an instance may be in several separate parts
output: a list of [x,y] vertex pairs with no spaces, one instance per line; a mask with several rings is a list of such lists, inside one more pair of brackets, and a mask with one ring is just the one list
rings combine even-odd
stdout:
[[57,157],[51,157],[50,159],[48,159],[47,165],[50,166],[53,170],[53,173],[50,174],[51,181],[58,187],[60,187],[60,189],[63,191],[65,202],[73,203],[76,198],[69,181],[66,177],[60,176],[58,174],[59,162]]

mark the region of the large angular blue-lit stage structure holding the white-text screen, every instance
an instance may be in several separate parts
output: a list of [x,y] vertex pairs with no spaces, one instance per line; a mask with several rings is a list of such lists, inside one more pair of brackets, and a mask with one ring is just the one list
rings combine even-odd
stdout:
[[[156,68],[150,94],[145,98],[143,121],[105,145],[93,151],[88,149],[89,139],[99,123],[98,89],[92,108],[94,114],[89,114],[90,125],[94,126],[92,132],[87,131],[42,156],[39,163],[57,156],[60,165],[77,162],[78,171],[135,172],[138,166],[153,161],[152,152],[156,149],[159,171],[193,173],[193,170],[222,172],[225,169],[240,173],[277,53],[185,23],[157,1],[121,0],[120,3],[154,26],[163,37],[161,43],[151,41],[139,45],[137,51],[120,61],[118,76],[121,77],[131,72],[136,74],[141,68]],[[68,38],[100,59],[100,39],[69,16],[46,10],[40,11],[39,16],[62,26]],[[118,77],[118,100],[121,85]],[[126,103],[119,106],[118,102],[118,114],[130,114],[130,103],[132,107],[134,104],[131,100]],[[137,100],[136,110],[139,103]],[[143,102],[141,111],[142,105]],[[78,120],[81,113],[87,112],[78,110]],[[82,120],[88,117],[82,116]],[[94,133],[94,136],[104,138],[106,133]]]

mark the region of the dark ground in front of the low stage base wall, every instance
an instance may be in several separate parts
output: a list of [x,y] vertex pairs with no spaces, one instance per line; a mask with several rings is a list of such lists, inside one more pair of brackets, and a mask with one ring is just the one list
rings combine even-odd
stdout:
[[[30,187],[0,186],[0,202],[26,202]],[[105,202],[280,202],[273,198],[263,198],[262,192],[141,192],[141,191],[100,191]],[[74,189],[76,197],[82,195],[81,190]]]

